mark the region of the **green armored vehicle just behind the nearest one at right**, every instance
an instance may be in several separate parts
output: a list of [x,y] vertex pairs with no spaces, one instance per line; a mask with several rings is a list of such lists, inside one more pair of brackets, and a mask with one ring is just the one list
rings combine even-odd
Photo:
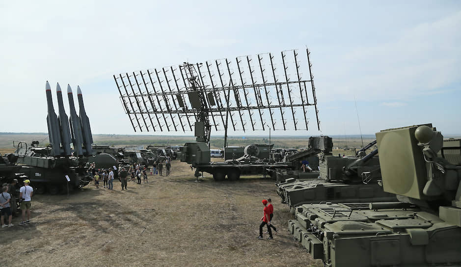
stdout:
[[[292,213],[294,207],[306,203],[397,200],[378,184],[381,176],[378,157],[374,157],[377,150],[363,157],[342,158],[331,154],[332,146],[328,136],[310,137],[307,150],[287,157],[294,162],[298,162],[301,156],[318,154],[320,158],[319,171],[299,173],[298,177],[304,180],[289,178],[276,184],[277,194]],[[371,146],[366,146],[363,151]]]

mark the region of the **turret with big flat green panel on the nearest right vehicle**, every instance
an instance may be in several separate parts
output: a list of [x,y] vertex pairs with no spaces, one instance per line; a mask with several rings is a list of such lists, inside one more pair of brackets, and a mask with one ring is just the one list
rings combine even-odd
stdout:
[[[384,191],[438,208],[441,219],[461,226],[459,140],[444,141],[431,124],[384,130],[376,137]],[[458,157],[449,161],[445,155]]]

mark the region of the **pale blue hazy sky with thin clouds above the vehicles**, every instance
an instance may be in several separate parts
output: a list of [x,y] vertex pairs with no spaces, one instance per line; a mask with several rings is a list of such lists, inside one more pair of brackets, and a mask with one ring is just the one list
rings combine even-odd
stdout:
[[321,131],[273,135],[461,134],[457,0],[1,1],[0,36],[0,132],[47,132],[46,80],[80,85],[93,134],[135,134],[112,75],[308,47]]

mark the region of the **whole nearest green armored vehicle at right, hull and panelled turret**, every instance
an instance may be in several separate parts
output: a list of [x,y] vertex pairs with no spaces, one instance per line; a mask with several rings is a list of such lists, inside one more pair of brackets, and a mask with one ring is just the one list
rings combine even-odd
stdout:
[[461,266],[461,139],[431,124],[376,134],[398,202],[304,204],[290,231],[325,266]]

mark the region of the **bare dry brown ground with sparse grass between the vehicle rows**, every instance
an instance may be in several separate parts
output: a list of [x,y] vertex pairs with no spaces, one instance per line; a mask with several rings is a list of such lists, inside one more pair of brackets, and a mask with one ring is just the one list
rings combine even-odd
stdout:
[[[0,228],[0,266],[323,266],[287,232],[292,218],[274,182],[193,182],[186,163],[121,191],[90,184],[69,197],[37,195],[31,223]],[[274,240],[257,240],[261,200],[272,198]],[[265,238],[268,236],[265,235]]]

